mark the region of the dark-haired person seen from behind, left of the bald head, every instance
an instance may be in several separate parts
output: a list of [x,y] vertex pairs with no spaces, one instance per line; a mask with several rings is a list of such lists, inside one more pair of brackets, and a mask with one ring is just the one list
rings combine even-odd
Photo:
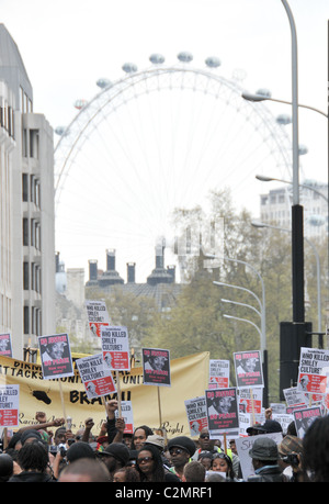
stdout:
[[9,479],[11,482],[52,482],[56,481],[48,469],[48,453],[42,441],[25,443],[19,451],[19,464],[22,472]]

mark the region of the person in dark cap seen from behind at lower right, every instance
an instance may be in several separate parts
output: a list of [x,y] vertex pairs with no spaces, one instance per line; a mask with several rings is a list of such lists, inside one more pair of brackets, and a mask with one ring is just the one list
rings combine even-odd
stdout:
[[277,445],[273,439],[264,436],[258,436],[253,441],[252,448],[249,450],[249,456],[252,459],[256,478],[250,478],[248,481],[287,481],[279,467],[279,450]]

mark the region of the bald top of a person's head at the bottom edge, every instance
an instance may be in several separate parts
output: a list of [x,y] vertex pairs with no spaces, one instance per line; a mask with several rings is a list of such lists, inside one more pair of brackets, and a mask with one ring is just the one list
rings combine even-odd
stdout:
[[81,458],[67,466],[59,475],[59,483],[110,482],[106,467],[95,459]]

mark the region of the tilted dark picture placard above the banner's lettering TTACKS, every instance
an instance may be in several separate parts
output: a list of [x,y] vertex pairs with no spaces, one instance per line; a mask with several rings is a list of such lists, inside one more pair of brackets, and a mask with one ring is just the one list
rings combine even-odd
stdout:
[[67,334],[38,336],[43,378],[72,377],[75,374],[69,338]]

